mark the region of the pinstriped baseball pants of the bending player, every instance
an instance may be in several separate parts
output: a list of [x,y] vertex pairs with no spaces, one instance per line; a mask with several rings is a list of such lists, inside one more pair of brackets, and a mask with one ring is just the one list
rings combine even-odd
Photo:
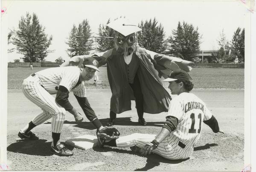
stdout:
[[43,110],[41,114],[37,115],[32,120],[32,123],[38,126],[52,118],[52,132],[61,133],[66,110],[59,106],[55,102],[55,98],[41,86],[39,78],[36,75],[34,77],[29,76],[26,78],[23,81],[22,91],[30,101]]

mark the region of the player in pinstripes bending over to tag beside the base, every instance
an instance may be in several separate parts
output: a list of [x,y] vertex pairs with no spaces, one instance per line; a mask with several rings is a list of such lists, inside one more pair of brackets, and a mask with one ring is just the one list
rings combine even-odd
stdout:
[[[84,60],[80,68],[76,66],[49,68],[26,78],[23,81],[23,93],[43,112],[21,129],[18,136],[21,139],[37,140],[38,137],[31,132],[31,129],[52,118],[51,152],[59,156],[73,155],[73,152],[60,142],[66,111],[73,114],[76,121],[81,122],[83,120],[82,115],[73,108],[68,100],[71,91],[73,91],[85,116],[93,125],[98,130],[104,128],[90,107],[84,86],[84,81],[90,80],[95,71],[99,71],[98,64],[97,60],[90,57]],[[53,94],[56,94],[56,98],[52,97]]]

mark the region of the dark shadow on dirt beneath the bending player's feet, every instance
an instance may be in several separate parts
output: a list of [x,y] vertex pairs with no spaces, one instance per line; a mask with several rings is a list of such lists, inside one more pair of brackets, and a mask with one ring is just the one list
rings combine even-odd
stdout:
[[50,152],[51,142],[47,140],[17,140],[7,147],[7,151],[22,153],[27,155],[51,156]]

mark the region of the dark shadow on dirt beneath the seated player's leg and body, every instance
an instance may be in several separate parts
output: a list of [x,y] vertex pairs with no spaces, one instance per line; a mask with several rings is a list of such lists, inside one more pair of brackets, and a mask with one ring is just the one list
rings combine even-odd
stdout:
[[[114,147],[109,147],[109,148],[99,148],[98,146],[93,148],[94,151],[97,152],[109,152],[109,151],[114,151],[117,153],[126,153],[126,154],[131,154],[131,155],[138,155],[141,156],[140,154],[133,152],[132,150],[125,150],[125,149],[117,149]],[[177,163],[181,163],[183,161],[188,160],[189,158],[185,159],[185,160],[168,160],[165,159],[157,154],[151,154],[147,157],[147,161],[146,164],[143,168],[140,169],[135,169],[134,171],[147,171],[150,170],[152,168],[154,168],[155,166],[159,166],[160,163],[169,163],[169,164],[177,164]]]

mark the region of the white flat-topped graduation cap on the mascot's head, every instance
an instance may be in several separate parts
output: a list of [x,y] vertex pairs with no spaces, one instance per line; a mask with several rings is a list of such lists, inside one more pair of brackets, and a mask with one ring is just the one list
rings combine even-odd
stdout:
[[113,22],[108,23],[107,26],[124,35],[125,37],[129,34],[139,32],[142,30],[126,18],[116,19]]

